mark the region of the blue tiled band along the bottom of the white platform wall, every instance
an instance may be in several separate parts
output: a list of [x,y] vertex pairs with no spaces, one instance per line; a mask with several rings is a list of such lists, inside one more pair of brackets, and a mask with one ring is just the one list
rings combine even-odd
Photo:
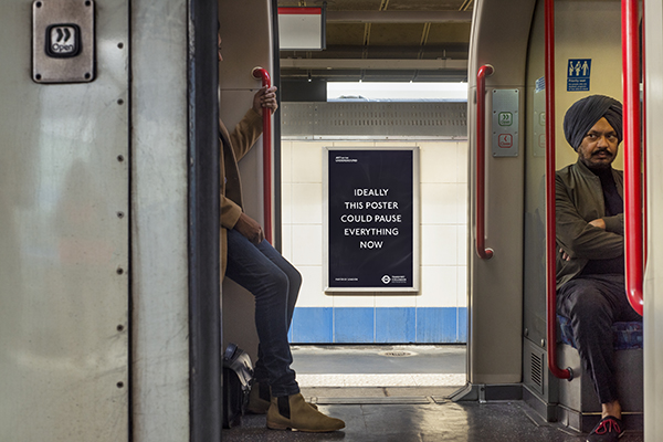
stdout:
[[461,344],[465,307],[296,307],[293,344]]

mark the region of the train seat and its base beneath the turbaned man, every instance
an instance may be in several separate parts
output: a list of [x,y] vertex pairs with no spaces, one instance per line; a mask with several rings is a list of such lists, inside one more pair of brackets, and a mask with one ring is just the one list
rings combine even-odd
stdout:
[[[569,318],[558,315],[559,367],[570,367],[573,379],[559,381],[558,420],[578,431],[589,432],[600,418],[601,404],[593,383],[585,376],[580,356]],[[623,419],[628,428],[642,427],[643,411],[643,361],[642,323],[614,323],[614,362],[617,366],[618,396],[622,406]]]

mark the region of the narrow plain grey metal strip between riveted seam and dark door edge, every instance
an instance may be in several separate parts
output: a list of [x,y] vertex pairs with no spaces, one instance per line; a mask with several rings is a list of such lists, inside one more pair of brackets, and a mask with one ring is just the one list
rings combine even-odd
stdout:
[[131,2],[134,442],[190,440],[187,7]]

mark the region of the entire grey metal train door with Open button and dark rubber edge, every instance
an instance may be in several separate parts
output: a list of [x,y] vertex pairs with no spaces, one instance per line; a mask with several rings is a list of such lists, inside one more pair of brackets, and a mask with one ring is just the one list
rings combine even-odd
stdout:
[[1,440],[220,440],[217,15],[0,6]]

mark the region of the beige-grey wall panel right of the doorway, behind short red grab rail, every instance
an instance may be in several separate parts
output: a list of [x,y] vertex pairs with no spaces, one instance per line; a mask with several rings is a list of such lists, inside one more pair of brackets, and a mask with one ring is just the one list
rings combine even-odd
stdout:
[[[476,73],[491,64],[495,73],[486,78],[486,108],[492,108],[495,88],[517,88],[518,108],[524,108],[527,42],[534,2],[478,1],[474,7],[470,48],[467,105],[470,151],[476,143]],[[486,114],[488,117],[488,114]],[[524,113],[518,113],[524,127]],[[491,134],[492,118],[486,133]],[[492,137],[486,136],[486,143]],[[469,379],[477,383],[509,383],[522,380],[523,318],[523,180],[524,137],[517,157],[486,155],[486,246],[495,254],[481,260],[475,252],[475,155],[470,158],[469,257]],[[518,265],[514,265],[518,263]]]

